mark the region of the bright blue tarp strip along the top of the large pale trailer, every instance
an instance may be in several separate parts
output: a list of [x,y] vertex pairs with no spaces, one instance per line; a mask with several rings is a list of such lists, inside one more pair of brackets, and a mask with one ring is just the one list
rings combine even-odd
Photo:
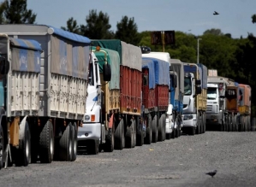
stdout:
[[84,36],[81,36],[72,32],[67,32],[67,31],[64,31],[63,29],[56,28],[54,26],[48,26],[48,27],[50,27],[53,30],[53,33],[56,34],[57,36],[67,38],[78,43],[91,44],[91,40]]

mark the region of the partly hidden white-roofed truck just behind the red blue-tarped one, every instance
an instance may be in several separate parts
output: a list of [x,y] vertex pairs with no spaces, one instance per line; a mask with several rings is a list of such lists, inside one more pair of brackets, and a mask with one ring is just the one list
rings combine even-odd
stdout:
[[168,52],[152,52],[150,48],[141,46],[143,57],[152,57],[169,62],[169,104],[165,112],[165,138],[175,138],[182,135],[182,115],[184,96],[184,69],[183,63],[171,59]]

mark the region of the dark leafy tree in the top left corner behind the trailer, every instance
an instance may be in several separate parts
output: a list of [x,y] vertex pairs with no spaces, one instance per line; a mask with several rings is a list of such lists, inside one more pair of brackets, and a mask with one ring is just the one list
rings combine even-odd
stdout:
[[5,0],[1,4],[1,9],[3,9],[1,23],[33,24],[37,17],[31,9],[27,9],[27,0]]

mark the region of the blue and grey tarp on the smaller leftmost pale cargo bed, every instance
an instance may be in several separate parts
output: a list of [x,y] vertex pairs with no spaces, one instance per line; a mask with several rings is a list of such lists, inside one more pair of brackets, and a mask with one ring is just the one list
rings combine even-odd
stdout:
[[9,38],[11,46],[11,68],[21,72],[40,72],[42,48],[35,40]]

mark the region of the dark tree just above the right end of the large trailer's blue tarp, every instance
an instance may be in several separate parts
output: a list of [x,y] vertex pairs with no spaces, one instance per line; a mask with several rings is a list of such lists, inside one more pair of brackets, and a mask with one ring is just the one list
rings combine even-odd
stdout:
[[100,11],[97,14],[96,9],[89,11],[86,16],[87,25],[80,25],[80,32],[87,38],[92,39],[111,39],[114,38],[114,32],[110,31],[109,15]]

